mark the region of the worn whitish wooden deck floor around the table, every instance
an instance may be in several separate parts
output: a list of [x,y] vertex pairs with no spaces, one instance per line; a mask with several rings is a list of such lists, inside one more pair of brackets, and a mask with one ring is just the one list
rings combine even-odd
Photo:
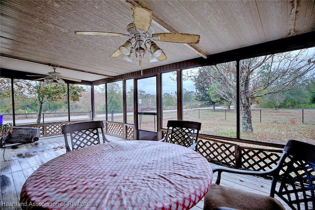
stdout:
[[[120,138],[108,136],[110,141],[125,141]],[[43,163],[65,153],[63,136],[40,138],[32,144],[17,145],[18,148],[6,147],[3,160],[3,148],[0,150],[1,160],[1,188],[0,209],[20,210],[16,204],[20,199],[22,185],[28,177]],[[213,167],[214,164],[211,164]],[[216,180],[216,175],[214,181]],[[242,190],[268,195],[270,192],[270,180],[245,175],[222,174],[222,185],[227,185]],[[286,209],[290,209],[285,203]],[[3,204],[12,204],[7,207]],[[201,200],[191,210],[202,210]]]

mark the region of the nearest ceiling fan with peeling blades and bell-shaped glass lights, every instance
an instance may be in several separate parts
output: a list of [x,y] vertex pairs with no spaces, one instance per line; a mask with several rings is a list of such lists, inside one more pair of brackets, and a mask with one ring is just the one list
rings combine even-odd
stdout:
[[198,44],[200,36],[190,33],[154,33],[151,26],[152,10],[134,5],[132,8],[133,23],[126,27],[125,33],[113,33],[104,31],[75,31],[75,34],[102,35],[102,36],[121,36],[129,38],[125,44],[120,46],[110,57],[116,58],[124,55],[124,59],[131,62],[132,55],[141,59],[148,51],[150,62],[162,61],[167,59],[165,53],[154,41],[175,42]]

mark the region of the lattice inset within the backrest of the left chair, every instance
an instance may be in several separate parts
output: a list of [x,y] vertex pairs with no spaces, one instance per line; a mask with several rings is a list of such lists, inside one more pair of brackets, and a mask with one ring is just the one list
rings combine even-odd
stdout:
[[99,144],[98,129],[70,132],[72,150]]

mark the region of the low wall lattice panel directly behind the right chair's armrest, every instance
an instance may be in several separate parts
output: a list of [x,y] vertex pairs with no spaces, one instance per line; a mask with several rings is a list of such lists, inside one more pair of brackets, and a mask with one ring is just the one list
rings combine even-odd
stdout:
[[282,152],[272,152],[253,148],[241,149],[242,168],[254,171],[268,171],[277,165]]

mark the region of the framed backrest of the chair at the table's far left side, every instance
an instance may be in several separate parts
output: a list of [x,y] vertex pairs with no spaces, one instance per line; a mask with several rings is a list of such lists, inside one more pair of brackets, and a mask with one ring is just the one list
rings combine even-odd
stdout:
[[100,144],[98,128],[100,128],[101,130],[103,143],[107,141],[105,137],[103,121],[90,121],[65,124],[61,128],[67,152],[71,151],[68,144],[68,134],[70,135],[72,150],[77,150],[79,148],[83,148],[86,146]]

